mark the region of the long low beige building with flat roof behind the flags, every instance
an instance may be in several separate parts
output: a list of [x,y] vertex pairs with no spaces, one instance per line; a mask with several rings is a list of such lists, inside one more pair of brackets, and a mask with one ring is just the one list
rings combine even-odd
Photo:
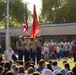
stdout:
[[[38,35],[48,41],[51,39],[58,41],[71,41],[76,39],[76,23],[40,25],[40,28],[41,32]],[[29,33],[31,33],[31,29],[32,27],[29,26]],[[11,44],[16,42],[18,36],[25,36],[25,33],[22,32],[22,27],[13,27],[10,28],[9,31],[11,36]],[[6,33],[6,29],[1,29],[0,32]]]

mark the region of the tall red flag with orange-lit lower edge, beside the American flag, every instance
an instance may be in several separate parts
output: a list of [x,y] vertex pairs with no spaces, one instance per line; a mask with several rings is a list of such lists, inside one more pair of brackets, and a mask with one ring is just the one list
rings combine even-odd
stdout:
[[39,21],[37,18],[36,6],[34,5],[31,37],[36,38],[36,36],[39,32],[40,32],[40,25],[39,25]]

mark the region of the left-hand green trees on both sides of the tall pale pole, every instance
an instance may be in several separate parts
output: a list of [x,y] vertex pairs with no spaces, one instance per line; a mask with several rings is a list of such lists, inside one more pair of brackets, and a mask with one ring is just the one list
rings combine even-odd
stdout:
[[[9,0],[10,27],[22,26],[24,23],[25,3],[23,0]],[[28,9],[29,17],[31,12]],[[6,0],[0,0],[0,25],[6,27]],[[30,18],[31,19],[31,18]]]

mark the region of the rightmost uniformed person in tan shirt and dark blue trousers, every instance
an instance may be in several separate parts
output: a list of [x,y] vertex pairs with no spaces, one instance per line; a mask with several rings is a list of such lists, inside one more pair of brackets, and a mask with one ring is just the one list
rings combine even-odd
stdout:
[[38,62],[41,59],[41,47],[42,47],[40,36],[36,37],[35,45],[36,45],[36,50],[37,50],[37,64],[38,64]]

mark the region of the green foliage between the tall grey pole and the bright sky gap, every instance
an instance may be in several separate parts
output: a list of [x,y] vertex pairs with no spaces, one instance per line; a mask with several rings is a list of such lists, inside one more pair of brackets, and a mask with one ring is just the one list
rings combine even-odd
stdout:
[[24,18],[24,4],[20,0],[10,0],[10,17],[12,23],[23,23]]

